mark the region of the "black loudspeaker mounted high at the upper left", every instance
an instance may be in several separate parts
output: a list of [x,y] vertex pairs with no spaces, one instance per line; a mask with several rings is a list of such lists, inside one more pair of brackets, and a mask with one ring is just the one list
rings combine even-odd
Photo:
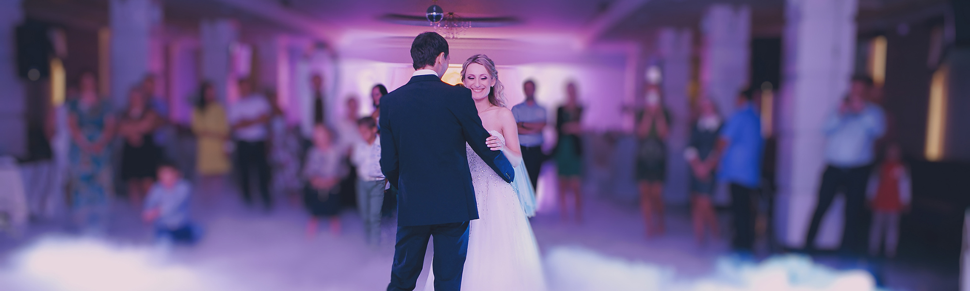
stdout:
[[50,76],[53,46],[48,28],[47,23],[32,19],[16,27],[16,71],[20,77],[36,81]]

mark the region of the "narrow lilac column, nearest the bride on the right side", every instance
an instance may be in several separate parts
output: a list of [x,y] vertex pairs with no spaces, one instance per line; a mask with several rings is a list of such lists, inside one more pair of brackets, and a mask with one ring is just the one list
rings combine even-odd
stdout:
[[691,56],[694,51],[693,33],[688,28],[661,28],[657,36],[657,52],[663,66],[664,105],[670,111],[670,131],[667,138],[666,200],[677,204],[690,202],[687,160],[684,148],[691,139],[691,101],[688,85],[691,81]]

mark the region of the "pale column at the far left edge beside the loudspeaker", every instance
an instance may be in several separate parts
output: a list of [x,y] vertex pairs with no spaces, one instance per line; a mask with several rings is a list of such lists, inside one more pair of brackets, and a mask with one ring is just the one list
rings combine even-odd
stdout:
[[16,68],[16,26],[20,0],[0,0],[0,155],[27,153],[24,97]]

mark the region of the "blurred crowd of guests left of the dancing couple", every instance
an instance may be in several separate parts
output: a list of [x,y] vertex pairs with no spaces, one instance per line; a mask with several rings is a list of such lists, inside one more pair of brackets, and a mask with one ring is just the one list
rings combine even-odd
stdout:
[[98,93],[93,72],[82,71],[63,104],[50,106],[43,126],[29,130],[31,153],[18,163],[25,209],[9,212],[69,218],[77,231],[97,235],[106,231],[113,203],[129,203],[144,210],[159,239],[194,242],[201,232],[190,205],[213,207],[225,182],[235,181],[250,209],[302,201],[312,217],[308,235],[319,218],[331,218],[339,234],[339,210],[357,206],[376,244],[381,218],[395,209],[394,195],[384,195],[376,141],[376,107],[387,89],[373,86],[372,116],[358,116],[358,100],[349,98],[346,115],[329,118],[322,76],[311,84],[313,128],[302,134],[274,94],[249,80],[235,83],[240,98],[231,104],[216,97],[210,82],[201,83],[191,121],[180,124],[173,103],[154,93],[154,76],[130,88],[118,106]]

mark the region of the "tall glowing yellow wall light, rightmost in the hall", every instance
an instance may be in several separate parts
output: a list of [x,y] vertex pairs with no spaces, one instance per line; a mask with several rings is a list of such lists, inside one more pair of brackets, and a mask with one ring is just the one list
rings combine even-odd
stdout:
[[929,114],[926,120],[926,159],[943,159],[947,130],[947,76],[946,66],[933,73],[929,86]]

